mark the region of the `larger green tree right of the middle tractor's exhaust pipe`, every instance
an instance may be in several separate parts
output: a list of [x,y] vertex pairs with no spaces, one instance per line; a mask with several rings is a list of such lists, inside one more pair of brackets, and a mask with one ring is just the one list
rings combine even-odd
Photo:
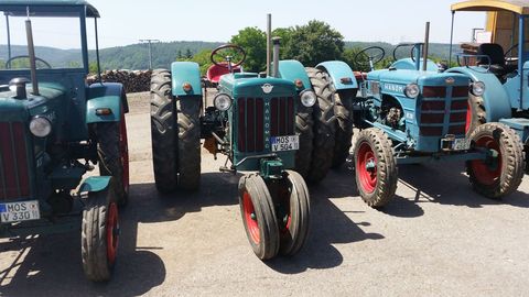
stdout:
[[284,56],[305,66],[341,59],[344,53],[344,36],[325,22],[310,21],[306,25],[295,26],[289,35]]

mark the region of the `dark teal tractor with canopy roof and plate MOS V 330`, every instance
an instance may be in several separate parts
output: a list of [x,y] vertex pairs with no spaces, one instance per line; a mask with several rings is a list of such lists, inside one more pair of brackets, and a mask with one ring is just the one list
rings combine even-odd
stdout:
[[[0,237],[80,230],[86,276],[108,280],[118,249],[118,206],[129,191],[128,107],[121,85],[85,82],[86,22],[94,19],[97,28],[99,13],[78,0],[4,0],[0,11],[8,36],[0,53]],[[80,28],[75,63],[37,56],[44,52],[33,43],[36,19],[53,20],[58,32],[65,20]],[[26,47],[12,46],[10,38],[18,36],[11,32],[24,31]],[[97,164],[100,176],[83,179]]]

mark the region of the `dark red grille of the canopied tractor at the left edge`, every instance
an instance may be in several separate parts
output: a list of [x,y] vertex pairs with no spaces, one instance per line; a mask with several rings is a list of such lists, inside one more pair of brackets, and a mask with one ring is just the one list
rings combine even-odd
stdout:
[[30,173],[25,125],[0,123],[0,199],[17,200],[30,196]]

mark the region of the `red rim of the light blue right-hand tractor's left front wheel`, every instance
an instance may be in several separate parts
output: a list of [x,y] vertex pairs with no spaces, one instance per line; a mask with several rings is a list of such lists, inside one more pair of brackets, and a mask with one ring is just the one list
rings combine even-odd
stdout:
[[365,193],[371,194],[377,187],[377,158],[371,146],[363,142],[356,158],[356,172],[360,182],[358,186],[360,186]]

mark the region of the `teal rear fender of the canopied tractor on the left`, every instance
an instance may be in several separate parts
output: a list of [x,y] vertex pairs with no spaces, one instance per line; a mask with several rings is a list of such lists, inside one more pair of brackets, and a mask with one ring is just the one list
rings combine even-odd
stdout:
[[[100,108],[109,108],[111,113],[107,116],[96,114],[96,110]],[[86,123],[119,122],[121,112],[129,112],[127,96],[121,84],[102,82],[89,87],[86,102]]]

